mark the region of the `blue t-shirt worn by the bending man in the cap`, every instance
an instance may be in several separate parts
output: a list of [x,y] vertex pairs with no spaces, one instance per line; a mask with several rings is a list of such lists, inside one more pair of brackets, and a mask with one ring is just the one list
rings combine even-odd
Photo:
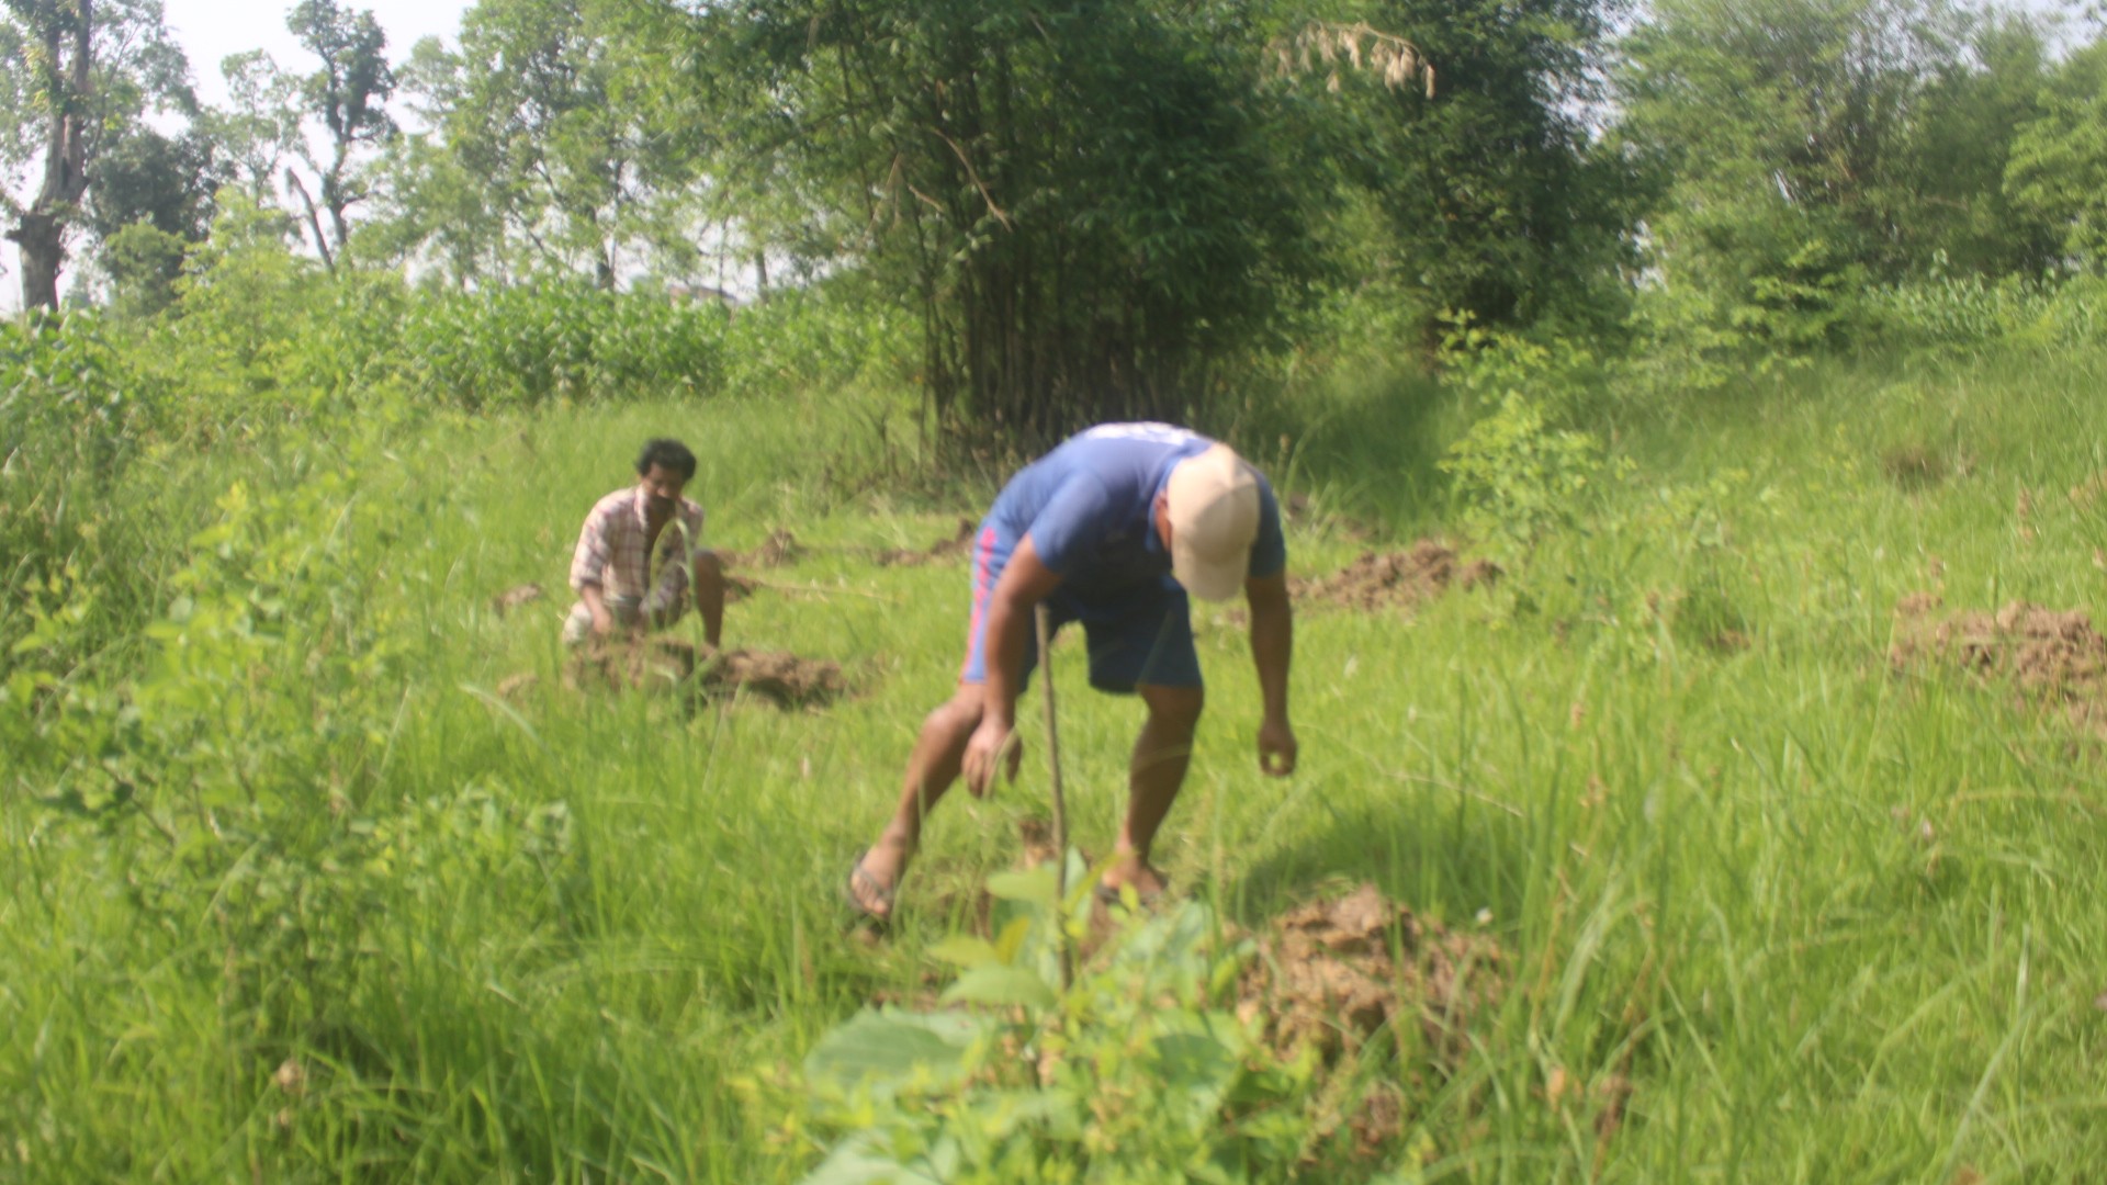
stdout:
[[[1157,538],[1157,493],[1178,462],[1209,445],[1169,424],[1100,424],[1011,477],[988,519],[1011,538],[1030,533],[1041,563],[1072,595],[1100,599],[1171,582],[1171,552]],[[1252,576],[1285,569],[1281,504],[1260,474]]]

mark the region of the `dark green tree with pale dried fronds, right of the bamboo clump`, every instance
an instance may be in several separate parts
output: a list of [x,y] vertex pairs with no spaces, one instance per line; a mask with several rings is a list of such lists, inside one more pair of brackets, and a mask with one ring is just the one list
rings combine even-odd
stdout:
[[1372,226],[1348,224],[1361,242],[1336,242],[1355,283],[1382,278],[1414,302],[1429,346],[1443,314],[1614,318],[1648,179],[1593,137],[1589,118],[1601,110],[1603,61],[1627,6],[1374,0],[1348,11],[1410,36],[1433,63],[1431,93],[1420,93],[1342,76],[1365,53],[1338,53],[1351,32],[1340,25],[1330,25],[1330,57],[1298,61],[1313,36],[1327,48],[1325,25],[1300,46],[1277,44],[1300,97],[1285,108],[1283,152],[1338,190],[1313,217],[1374,215]]

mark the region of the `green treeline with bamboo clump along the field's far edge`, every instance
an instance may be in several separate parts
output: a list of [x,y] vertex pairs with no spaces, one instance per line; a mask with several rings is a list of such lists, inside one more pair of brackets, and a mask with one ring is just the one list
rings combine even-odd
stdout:
[[1024,441],[1458,325],[1852,348],[1867,293],[2101,259],[2101,46],[1993,2],[480,0],[400,59],[354,6],[287,19],[308,61],[230,57],[200,108],[156,4],[8,4],[29,304],[86,247],[76,297],[166,329],[242,249],[215,221],[354,287],[824,278],[914,327],[925,428]]

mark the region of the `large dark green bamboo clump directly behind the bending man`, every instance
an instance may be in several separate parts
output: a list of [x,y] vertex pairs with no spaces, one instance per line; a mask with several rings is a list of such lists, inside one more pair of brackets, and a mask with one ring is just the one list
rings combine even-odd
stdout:
[[[942,424],[1176,415],[1302,291],[1256,34],[1182,2],[664,4],[721,110],[716,177],[805,205],[923,323]],[[1218,19],[1228,17],[1228,19]]]

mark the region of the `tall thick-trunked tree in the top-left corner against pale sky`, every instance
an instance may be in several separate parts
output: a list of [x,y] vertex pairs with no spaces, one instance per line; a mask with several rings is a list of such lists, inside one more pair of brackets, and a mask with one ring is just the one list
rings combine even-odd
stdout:
[[[4,0],[0,8],[0,188],[21,249],[27,308],[59,306],[59,274],[95,164],[147,110],[188,112],[183,53],[160,0]],[[13,181],[29,171],[29,194]]]

